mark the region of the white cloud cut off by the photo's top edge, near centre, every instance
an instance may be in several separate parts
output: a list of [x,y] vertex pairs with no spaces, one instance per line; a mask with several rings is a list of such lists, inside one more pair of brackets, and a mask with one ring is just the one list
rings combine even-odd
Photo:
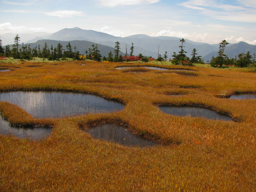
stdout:
[[104,7],[115,7],[124,5],[153,4],[160,0],[98,0]]

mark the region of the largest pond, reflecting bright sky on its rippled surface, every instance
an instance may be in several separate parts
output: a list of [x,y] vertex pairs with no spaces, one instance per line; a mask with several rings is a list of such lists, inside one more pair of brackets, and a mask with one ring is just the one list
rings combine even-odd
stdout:
[[109,113],[124,109],[121,102],[93,94],[72,92],[15,91],[0,93],[8,101],[35,118],[59,118],[88,113]]

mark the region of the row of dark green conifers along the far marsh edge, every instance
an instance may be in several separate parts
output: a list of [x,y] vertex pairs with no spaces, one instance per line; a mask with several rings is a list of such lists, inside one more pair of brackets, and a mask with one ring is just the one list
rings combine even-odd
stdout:
[[[141,60],[143,62],[148,62],[152,60],[157,61],[164,61],[167,60],[168,55],[167,52],[163,54],[163,57],[161,54],[158,54],[157,59],[154,59],[153,57],[145,57],[142,54],[139,54],[138,56],[134,56],[134,44],[132,43],[130,48],[130,54],[127,54],[127,47],[125,51],[125,55],[122,56],[120,54],[120,42],[115,42],[115,50],[112,53],[108,54],[108,57],[101,56],[100,51],[98,50],[98,46],[92,45],[91,48],[88,49],[88,51],[84,54],[80,54],[80,52],[77,50],[76,46],[72,47],[70,45],[70,42],[68,45],[63,48],[63,46],[59,43],[56,48],[53,48],[53,46],[49,47],[47,43],[45,42],[44,47],[40,47],[40,45],[34,47],[33,49],[30,48],[30,45],[24,45],[19,44],[20,37],[16,35],[14,37],[14,44],[12,46],[7,45],[5,49],[2,47],[2,40],[0,39],[0,56],[3,57],[13,57],[15,59],[28,59],[31,60],[35,57],[48,59],[48,60],[65,60],[65,58],[71,58],[74,60],[84,60],[84,59],[90,59],[95,61],[109,61],[109,62],[122,62],[122,61],[138,61]],[[194,63],[201,63],[204,64],[203,59],[201,56],[198,55],[197,50],[194,48],[191,52],[191,58],[189,58],[186,55],[185,48],[185,39],[180,39],[181,45],[179,46],[180,51],[177,54],[176,52],[173,52],[172,59],[169,59],[174,65],[184,65],[184,66],[193,66]],[[228,58],[227,55],[224,54],[225,48],[227,47],[229,43],[226,40],[222,40],[220,42],[219,46],[219,52],[217,57],[212,57],[211,61],[209,62],[211,67],[218,67],[223,68],[226,66],[236,66],[236,67],[255,67],[255,54],[253,54],[253,57],[250,55],[250,52],[247,53],[241,53],[235,58]]]

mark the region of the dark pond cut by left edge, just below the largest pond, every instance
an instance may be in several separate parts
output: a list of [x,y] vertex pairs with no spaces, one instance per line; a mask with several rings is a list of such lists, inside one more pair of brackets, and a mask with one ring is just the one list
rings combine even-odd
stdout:
[[49,137],[52,132],[51,127],[19,127],[11,126],[10,123],[0,116],[0,134],[13,135],[18,138],[31,138],[40,140]]

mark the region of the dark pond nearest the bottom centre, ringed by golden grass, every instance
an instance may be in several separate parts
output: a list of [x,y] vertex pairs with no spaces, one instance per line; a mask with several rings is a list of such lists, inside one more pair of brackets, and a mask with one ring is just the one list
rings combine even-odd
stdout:
[[157,143],[145,138],[137,137],[125,127],[116,124],[101,124],[87,131],[96,139],[107,140],[125,146],[155,146]]

